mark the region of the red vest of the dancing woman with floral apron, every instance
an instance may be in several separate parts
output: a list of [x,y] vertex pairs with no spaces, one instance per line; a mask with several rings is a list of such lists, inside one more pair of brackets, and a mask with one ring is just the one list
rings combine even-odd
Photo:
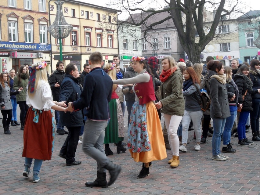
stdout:
[[[147,73],[147,72],[145,72]],[[150,75],[150,74],[149,74]],[[139,98],[139,105],[148,103],[152,100],[156,100],[154,89],[153,89],[153,79],[150,75],[150,80],[147,83],[136,83],[134,85],[135,93]]]

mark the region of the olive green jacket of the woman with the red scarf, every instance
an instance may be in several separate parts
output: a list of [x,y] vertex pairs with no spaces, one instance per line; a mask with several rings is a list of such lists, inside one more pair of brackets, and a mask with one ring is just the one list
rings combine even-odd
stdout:
[[162,113],[183,116],[184,98],[182,95],[182,74],[177,69],[165,82],[161,83]]

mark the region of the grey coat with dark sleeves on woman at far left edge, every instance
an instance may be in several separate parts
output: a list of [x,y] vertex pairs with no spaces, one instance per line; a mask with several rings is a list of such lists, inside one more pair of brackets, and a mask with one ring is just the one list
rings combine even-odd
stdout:
[[[18,94],[18,89],[16,91],[10,91],[7,81],[5,81],[5,88],[3,88],[2,83],[0,83],[0,85],[0,110],[11,110],[13,107],[10,95],[12,96]],[[2,107],[5,107],[5,109],[2,109]]]

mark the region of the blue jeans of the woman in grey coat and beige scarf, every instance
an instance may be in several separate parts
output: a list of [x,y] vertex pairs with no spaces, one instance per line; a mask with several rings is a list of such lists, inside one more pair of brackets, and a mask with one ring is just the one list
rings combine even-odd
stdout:
[[221,135],[226,123],[226,118],[212,118],[214,133],[212,136],[212,155],[220,154]]

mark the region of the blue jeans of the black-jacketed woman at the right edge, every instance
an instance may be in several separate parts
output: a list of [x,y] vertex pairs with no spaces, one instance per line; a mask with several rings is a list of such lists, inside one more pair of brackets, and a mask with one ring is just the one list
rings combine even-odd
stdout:
[[253,104],[252,107],[254,108],[254,110],[250,112],[251,129],[252,129],[252,132],[257,132],[257,131],[259,131],[260,99],[253,98],[252,104]]

